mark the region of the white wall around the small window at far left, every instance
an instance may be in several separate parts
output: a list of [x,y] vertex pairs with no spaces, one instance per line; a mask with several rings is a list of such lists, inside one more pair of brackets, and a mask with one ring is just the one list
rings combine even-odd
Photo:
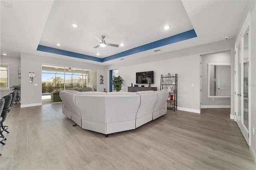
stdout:
[[[11,87],[12,85],[20,85],[20,79],[18,78],[18,66],[20,66],[20,58],[1,55],[0,62],[10,64],[9,65],[9,87]],[[11,91],[12,90],[10,89],[9,90],[1,89],[0,96],[3,97],[4,95],[10,93]],[[21,97],[20,97],[20,100],[22,100]]]

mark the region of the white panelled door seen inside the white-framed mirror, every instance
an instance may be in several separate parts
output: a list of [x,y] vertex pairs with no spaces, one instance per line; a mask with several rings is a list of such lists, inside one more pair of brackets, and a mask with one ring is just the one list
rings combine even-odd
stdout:
[[230,96],[230,65],[217,65],[217,96]]

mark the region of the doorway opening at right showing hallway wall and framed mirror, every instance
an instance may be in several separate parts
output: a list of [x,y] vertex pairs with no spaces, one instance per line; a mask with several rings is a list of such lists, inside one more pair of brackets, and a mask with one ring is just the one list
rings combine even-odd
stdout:
[[231,51],[200,55],[201,108],[230,108]]

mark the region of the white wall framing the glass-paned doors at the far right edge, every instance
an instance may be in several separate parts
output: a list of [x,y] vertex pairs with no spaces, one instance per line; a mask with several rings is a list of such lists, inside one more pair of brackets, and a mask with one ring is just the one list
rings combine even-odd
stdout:
[[[239,37],[239,32],[242,28],[242,25],[244,24],[245,18],[248,15],[248,12],[251,12],[251,18],[250,18],[250,34],[251,34],[251,44],[250,44],[250,53],[251,53],[251,60],[250,60],[250,72],[251,76],[249,79],[251,80],[251,83],[249,84],[250,87],[250,152],[252,154],[252,157],[254,158],[254,161],[256,162],[256,1],[249,1],[246,9],[244,10],[244,14],[242,17],[242,20],[240,21],[240,28],[237,30],[236,38]],[[254,127],[254,134],[252,134],[252,127]]]

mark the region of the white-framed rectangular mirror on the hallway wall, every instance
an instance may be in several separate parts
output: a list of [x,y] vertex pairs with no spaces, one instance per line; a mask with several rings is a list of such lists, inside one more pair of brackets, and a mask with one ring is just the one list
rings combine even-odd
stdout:
[[230,64],[207,65],[208,98],[230,97]]

